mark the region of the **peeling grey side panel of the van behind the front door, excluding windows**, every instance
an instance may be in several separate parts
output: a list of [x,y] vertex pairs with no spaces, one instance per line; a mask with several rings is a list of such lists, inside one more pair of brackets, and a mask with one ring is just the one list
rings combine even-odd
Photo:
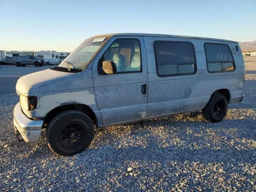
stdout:
[[[234,51],[238,43],[222,42],[228,44],[233,50],[236,70],[232,72],[209,73],[206,67],[204,43],[220,43],[217,40],[186,39],[173,37],[144,37],[148,60],[148,108],[147,117],[176,114],[201,110],[206,106],[211,95],[219,89],[228,89],[230,102],[239,102],[242,95],[242,81],[244,76],[244,61],[241,50]],[[196,74],[182,76],[159,77],[156,73],[156,61],[151,54],[153,42],[185,41],[191,42],[196,53]],[[186,90],[190,96],[186,96]]]

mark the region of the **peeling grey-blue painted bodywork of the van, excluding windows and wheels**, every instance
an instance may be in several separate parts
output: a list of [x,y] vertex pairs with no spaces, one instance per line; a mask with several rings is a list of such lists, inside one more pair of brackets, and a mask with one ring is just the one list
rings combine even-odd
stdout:
[[[108,34],[109,35],[109,34]],[[88,67],[79,73],[44,70],[21,77],[16,84],[18,94],[36,96],[37,108],[23,109],[29,118],[43,119],[48,112],[67,104],[84,104],[94,112],[98,127],[124,124],[159,116],[198,111],[219,89],[228,89],[229,103],[239,102],[242,95],[244,60],[237,42],[211,38],[157,34],[110,34],[112,36]],[[98,62],[116,39],[138,39],[142,72],[101,75]],[[159,77],[153,42],[187,41],[195,48],[195,74]],[[209,73],[204,43],[228,44],[236,68],[232,72]],[[238,51],[236,50],[238,46]],[[142,86],[147,92],[142,94]]]

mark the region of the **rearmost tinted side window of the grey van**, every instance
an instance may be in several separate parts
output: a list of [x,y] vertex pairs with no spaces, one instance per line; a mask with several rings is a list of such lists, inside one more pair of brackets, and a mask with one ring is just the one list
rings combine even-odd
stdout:
[[234,59],[227,44],[205,43],[208,72],[229,72],[235,69]]

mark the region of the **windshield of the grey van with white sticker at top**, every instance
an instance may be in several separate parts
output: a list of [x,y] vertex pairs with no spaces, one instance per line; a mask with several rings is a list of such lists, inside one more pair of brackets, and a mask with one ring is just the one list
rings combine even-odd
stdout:
[[91,37],[70,53],[58,67],[84,70],[92,56],[107,42],[109,37]]

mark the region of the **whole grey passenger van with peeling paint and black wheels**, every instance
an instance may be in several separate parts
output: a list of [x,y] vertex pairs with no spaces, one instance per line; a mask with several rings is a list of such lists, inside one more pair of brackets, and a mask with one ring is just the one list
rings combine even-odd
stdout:
[[221,121],[241,102],[244,60],[238,42],[161,34],[86,39],[58,66],[21,77],[14,130],[69,156],[102,128],[202,110]]

